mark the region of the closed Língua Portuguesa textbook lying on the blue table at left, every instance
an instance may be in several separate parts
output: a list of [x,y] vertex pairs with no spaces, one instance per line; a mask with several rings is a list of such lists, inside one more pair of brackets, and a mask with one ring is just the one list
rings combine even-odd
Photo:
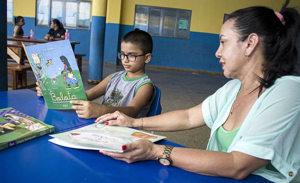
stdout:
[[53,131],[53,126],[16,109],[0,109],[0,151]]

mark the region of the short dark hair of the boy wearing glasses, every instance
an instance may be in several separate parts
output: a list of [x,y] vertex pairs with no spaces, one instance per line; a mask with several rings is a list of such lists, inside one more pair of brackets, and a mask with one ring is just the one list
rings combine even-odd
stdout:
[[143,51],[143,54],[152,53],[153,41],[150,34],[140,29],[134,29],[128,32],[122,38],[122,42],[131,43],[137,45],[137,47]]

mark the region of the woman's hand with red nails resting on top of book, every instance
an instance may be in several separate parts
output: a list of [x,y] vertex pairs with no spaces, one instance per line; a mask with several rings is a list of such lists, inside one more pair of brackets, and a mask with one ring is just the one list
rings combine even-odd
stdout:
[[134,125],[135,119],[123,114],[120,111],[116,111],[114,113],[104,114],[103,116],[98,117],[95,122],[103,123],[105,125],[118,125],[118,126],[126,126],[126,127],[135,127]]

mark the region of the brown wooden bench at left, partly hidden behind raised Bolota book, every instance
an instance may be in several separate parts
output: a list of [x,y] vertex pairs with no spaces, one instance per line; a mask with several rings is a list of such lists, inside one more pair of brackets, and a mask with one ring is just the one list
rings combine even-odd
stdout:
[[7,73],[13,75],[13,84],[8,84],[8,87],[12,87],[13,90],[35,87],[35,84],[27,85],[28,70],[32,70],[31,66],[7,64]]

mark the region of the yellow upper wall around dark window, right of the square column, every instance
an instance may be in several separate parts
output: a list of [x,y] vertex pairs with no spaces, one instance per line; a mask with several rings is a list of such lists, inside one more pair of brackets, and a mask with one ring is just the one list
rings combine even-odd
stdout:
[[[134,25],[135,5],[192,10],[190,31],[219,34],[224,13],[244,7],[262,5],[280,11],[284,0],[122,0],[121,24]],[[290,6],[300,6],[291,0]]]

